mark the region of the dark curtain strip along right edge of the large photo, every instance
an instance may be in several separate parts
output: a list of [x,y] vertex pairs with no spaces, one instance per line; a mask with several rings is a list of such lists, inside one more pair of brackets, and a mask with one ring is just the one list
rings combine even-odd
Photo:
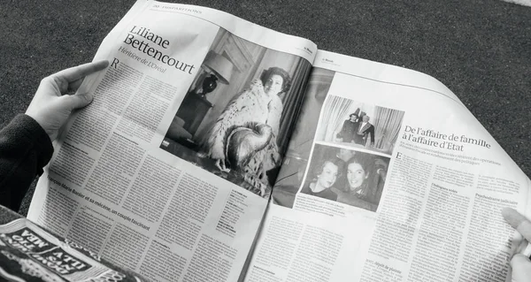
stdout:
[[289,138],[296,125],[296,118],[298,117],[300,108],[304,101],[304,87],[310,76],[312,65],[304,59],[300,59],[291,74],[291,88],[287,94],[281,95],[282,100],[282,117],[279,135],[277,136],[277,144],[281,154],[286,152],[289,145]]

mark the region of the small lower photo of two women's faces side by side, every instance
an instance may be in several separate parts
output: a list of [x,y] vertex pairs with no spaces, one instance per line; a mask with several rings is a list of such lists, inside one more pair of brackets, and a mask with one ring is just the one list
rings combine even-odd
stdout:
[[316,143],[300,193],[376,211],[390,158]]

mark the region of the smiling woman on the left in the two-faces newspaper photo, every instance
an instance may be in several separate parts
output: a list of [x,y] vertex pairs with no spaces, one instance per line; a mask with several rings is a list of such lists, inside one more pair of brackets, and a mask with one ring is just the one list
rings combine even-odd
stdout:
[[342,161],[336,157],[321,161],[313,168],[312,181],[303,187],[301,193],[336,201],[337,194],[332,192],[332,187],[341,170]]

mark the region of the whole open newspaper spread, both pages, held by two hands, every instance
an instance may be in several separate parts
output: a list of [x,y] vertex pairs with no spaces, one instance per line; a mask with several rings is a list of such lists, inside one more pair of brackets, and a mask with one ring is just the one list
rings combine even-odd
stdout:
[[50,231],[153,281],[507,276],[527,176],[437,80],[155,1],[98,59],[28,213]]

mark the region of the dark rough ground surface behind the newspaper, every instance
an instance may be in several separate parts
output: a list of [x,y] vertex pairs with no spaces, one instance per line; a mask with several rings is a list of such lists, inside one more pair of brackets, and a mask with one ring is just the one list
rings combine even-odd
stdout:
[[[311,39],[319,49],[425,72],[531,175],[531,8],[497,0],[181,1]],[[0,3],[0,124],[39,81],[89,62],[132,0]],[[29,197],[21,208],[26,214]]]

